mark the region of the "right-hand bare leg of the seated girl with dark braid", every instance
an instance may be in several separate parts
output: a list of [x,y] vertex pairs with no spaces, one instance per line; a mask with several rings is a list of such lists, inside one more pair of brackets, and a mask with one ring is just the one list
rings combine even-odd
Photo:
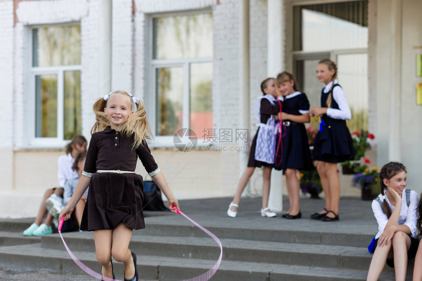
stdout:
[[397,231],[393,236],[392,245],[396,281],[404,281],[406,279],[407,250],[410,248],[410,238],[406,233]]

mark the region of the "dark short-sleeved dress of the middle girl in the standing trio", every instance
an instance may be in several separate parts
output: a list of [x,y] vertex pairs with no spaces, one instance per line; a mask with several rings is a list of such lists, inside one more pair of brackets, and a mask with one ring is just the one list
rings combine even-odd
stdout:
[[[309,101],[304,93],[294,92],[284,97],[282,102],[282,110],[292,115],[302,115],[309,112]],[[291,120],[283,120],[286,132],[282,138],[283,150],[278,147],[276,170],[299,169],[312,170],[311,151],[309,150],[308,135],[306,133],[305,124],[297,123]],[[277,134],[277,142],[279,142],[279,134]],[[283,161],[280,160],[283,157]],[[278,165],[277,165],[278,164]]]

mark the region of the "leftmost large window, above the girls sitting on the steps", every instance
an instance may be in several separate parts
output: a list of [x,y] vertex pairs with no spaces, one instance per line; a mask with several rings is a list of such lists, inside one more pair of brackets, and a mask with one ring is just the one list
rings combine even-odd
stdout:
[[81,132],[80,26],[33,28],[33,143],[59,144]]

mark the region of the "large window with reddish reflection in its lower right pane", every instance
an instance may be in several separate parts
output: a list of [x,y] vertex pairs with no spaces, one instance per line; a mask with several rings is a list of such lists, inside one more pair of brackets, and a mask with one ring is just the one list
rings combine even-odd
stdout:
[[[212,128],[212,14],[153,19],[155,134]],[[191,135],[193,137],[193,135]]]

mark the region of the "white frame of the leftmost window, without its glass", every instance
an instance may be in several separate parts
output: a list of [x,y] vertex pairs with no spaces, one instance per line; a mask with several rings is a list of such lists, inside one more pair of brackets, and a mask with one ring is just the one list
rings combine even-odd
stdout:
[[[29,97],[27,106],[27,119],[32,120],[28,124],[28,139],[29,146],[32,148],[63,148],[69,140],[63,138],[64,132],[64,72],[66,71],[81,71],[82,65],[64,65],[64,66],[49,66],[49,67],[34,67],[33,65],[33,30],[43,27],[51,26],[80,26],[79,22],[68,24],[52,24],[43,26],[31,26],[29,28]],[[36,137],[35,136],[35,77],[37,75],[56,75],[57,76],[57,137]]]

